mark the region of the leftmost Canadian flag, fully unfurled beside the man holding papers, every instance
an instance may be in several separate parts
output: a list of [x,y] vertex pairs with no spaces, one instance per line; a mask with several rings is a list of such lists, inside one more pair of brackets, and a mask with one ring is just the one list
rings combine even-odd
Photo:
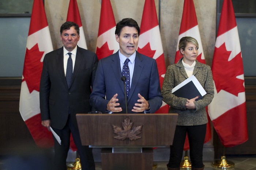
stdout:
[[52,133],[41,125],[39,108],[39,84],[46,53],[53,50],[50,31],[42,0],[34,0],[22,84],[20,90],[19,111],[29,131],[40,147],[52,147]]

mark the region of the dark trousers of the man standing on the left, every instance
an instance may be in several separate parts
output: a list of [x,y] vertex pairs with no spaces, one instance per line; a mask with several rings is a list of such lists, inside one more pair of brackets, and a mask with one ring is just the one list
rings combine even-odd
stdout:
[[82,169],[95,170],[92,148],[89,148],[89,146],[82,146],[79,130],[74,126],[70,118],[68,118],[67,124],[62,130],[56,128],[53,128],[53,130],[60,136],[61,139],[60,145],[53,136],[55,152],[53,170],[67,170],[66,159],[70,145],[70,133],[72,133],[75,145],[77,147]]

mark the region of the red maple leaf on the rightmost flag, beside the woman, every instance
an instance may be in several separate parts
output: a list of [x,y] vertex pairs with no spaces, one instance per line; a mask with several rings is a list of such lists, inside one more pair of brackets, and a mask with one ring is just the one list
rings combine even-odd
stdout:
[[244,92],[244,80],[237,76],[244,74],[241,52],[233,59],[228,61],[231,51],[227,51],[225,43],[219,48],[215,47],[214,62],[212,62],[212,76],[215,81],[217,92],[225,90],[238,96],[238,93]]

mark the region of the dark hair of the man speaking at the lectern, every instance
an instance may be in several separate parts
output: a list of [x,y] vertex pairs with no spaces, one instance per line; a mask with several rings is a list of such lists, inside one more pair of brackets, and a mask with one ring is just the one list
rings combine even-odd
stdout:
[[117,34],[118,36],[120,36],[121,30],[123,29],[123,27],[128,26],[128,27],[135,27],[138,31],[138,36],[140,35],[140,27],[138,26],[138,23],[132,19],[132,18],[124,18],[121,21],[119,21],[116,24],[116,31],[115,34]]

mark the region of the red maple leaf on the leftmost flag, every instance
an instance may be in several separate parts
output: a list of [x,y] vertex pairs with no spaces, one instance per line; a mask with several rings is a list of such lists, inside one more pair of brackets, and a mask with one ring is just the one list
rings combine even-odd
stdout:
[[30,50],[26,48],[23,80],[26,81],[29,93],[36,90],[39,92],[40,78],[43,63],[40,61],[44,51],[39,51],[38,44],[34,45]]

